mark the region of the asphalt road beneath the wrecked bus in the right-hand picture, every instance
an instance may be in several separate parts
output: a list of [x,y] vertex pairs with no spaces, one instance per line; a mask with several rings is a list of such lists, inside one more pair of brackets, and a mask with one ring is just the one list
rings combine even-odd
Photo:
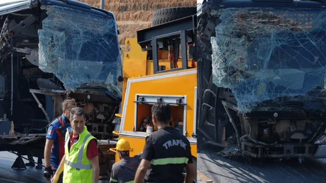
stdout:
[[[308,183],[326,181],[326,160],[298,159],[273,162],[252,161],[242,157],[223,158],[216,155],[220,148],[210,145],[199,147],[197,154],[198,182],[286,182]],[[212,180],[212,181],[207,181]]]

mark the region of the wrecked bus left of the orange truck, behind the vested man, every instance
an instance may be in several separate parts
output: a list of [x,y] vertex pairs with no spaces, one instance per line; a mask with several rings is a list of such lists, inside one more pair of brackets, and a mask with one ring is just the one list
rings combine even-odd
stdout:
[[17,152],[13,168],[25,168],[20,157],[30,151],[43,158],[66,98],[84,108],[92,135],[112,139],[122,95],[114,14],[70,0],[11,0],[0,22],[0,151]]

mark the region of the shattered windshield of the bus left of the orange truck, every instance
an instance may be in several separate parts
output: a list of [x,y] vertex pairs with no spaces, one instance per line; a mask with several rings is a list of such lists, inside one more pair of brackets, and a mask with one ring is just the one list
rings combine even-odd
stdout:
[[59,6],[42,6],[39,68],[55,74],[66,89],[105,87],[121,95],[122,75],[113,18]]

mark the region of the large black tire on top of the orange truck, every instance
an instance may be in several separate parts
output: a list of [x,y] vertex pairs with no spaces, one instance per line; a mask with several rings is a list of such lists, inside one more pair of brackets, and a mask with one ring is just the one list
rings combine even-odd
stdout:
[[197,14],[197,7],[171,7],[153,12],[152,26]]

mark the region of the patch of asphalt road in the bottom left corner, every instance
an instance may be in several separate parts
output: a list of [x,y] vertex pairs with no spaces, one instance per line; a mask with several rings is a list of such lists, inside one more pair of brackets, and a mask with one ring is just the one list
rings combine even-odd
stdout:
[[[12,169],[11,166],[15,162],[16,158],[17,155],[14,155],[12,153],[5,152],[5,151],[0,152],[0,182],[6,182],[6,183],[49,182],[46,181],[46,179],[43,177],[44,167],[43,169],[36,169],[35,166],[26,167],[27,169],[25,170]],[[37,161],[37,158],[34,157],[34,161]],[[24,162],[28,163],[27,160],[24,160]]]

